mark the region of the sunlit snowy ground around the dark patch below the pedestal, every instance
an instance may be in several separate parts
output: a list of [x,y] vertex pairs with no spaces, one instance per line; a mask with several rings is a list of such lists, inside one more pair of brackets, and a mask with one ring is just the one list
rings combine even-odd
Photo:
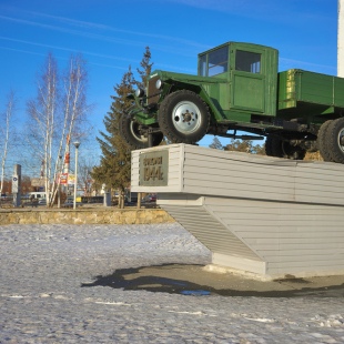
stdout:
[[208,264],[179,224],[0,226],[0,343],[344,343],[343,297],[89,286],[120,269]]

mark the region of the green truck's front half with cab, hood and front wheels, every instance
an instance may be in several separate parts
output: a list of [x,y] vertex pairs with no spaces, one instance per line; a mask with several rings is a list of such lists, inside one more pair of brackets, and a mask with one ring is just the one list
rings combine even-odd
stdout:
[[198,75],[153,71],[121,120],[124,140],[144,148],[149,138],[158,145],[163,136],[194,144],[206,133],[232,138],[244,129],[260,134],[276,113],[277,57],[270,47],[226,42],[199,54]]

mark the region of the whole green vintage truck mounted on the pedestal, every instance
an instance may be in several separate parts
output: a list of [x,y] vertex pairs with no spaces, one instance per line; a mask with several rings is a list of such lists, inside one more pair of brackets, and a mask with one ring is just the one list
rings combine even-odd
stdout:
[[344,79],[277,69],[276,49],[227,42],[199,54],[198,75],[155,70],[130,97],[121,134],[133,149],[163,136],[189,144],[205,134],[266,138],[271,156],[302,160],[320,150],[325,161],[344,163]]

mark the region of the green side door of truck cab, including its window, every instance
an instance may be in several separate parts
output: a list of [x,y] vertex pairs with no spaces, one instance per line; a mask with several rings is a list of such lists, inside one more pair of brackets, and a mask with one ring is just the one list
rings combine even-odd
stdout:
[[263,53],[257,49],[232,50],[231,109],[265,112],[265,67]]

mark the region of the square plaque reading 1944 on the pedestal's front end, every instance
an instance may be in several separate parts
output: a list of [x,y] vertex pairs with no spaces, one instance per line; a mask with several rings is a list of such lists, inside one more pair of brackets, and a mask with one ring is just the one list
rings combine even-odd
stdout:
[[169,151],[156,150],[140,154],[140,185],[166,186],[169,182]]

